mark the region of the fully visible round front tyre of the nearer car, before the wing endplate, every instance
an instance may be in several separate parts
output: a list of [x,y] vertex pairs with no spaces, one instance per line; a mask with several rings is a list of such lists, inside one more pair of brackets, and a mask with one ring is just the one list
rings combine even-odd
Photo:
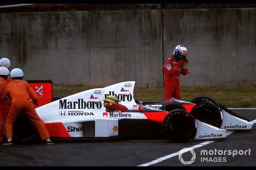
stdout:
[[172,142],[185,142],[196,135],[195,119],[182,109],[170,111],[163,119],[162,128],[166,138]]

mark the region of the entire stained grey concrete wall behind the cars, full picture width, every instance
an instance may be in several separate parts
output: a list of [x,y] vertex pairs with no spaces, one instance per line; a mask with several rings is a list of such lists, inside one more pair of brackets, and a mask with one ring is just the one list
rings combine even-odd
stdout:
[[0,57],[25,80],[161,87],[163,59],[188,49],[181,85],[256,83],[256,8],[0,13]]

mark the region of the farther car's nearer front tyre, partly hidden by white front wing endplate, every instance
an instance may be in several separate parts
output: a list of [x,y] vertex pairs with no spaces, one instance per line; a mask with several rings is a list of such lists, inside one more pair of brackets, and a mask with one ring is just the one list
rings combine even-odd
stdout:
[[190,111],[191,115],[204,123],[212,126],[221,127],[222,115],[216,105],[210,102],[196,104]]

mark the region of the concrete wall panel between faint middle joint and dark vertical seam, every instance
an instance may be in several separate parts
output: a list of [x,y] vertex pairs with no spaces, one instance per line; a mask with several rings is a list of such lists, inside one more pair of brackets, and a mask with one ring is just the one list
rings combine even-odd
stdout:
[[90,83],[162,86],[161,11],[90,13]]

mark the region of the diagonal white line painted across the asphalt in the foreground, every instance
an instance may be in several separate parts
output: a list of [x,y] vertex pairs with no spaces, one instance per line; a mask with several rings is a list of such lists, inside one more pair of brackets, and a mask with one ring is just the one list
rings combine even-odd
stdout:
[[[256,119],[253,120],[253,121],[250,121],[250,122],[253,123],[253,124],[255,124],[255,123],[256,123]],[[234,132],[236,132],[236,131],[227,131],[227,135],[230,135],[230,134],[232,134],[232,133],[234,133]],[[208,141],[206,141],[206,142],[197,144],[197,145],[195,145],[195,146],[191,146],[191,147],[189,147],[189,148],[191,148],[191,149],[196,149],[196,148],[205,146],[205,145],[207,145],[207,144],[210,144],[210,143],[212,143],[212,142],[215,142],[215,141],[217,141],[217,140],[218,140],[218,139],[216,139],[216,140],[208,140]],[[181,150],[180,150],[180,151],[181,151]],[[175,153],[170,154],[170,155],[166,155],[166,156],[164,156],[164,157],[155,159],[154,161],[151,161],[151,162],[148,162],[148,163],[144,163],[144,164],[138,165],[138,166],[150,166],[150,165],[154,165],[154,164],[159,163],[159,162],[162,162],[162,161],[164,161],[164,160],[166,160],[166,159],[169,159],[169,158],[172,158],[172,157],[177,156],[177,155],[180,153],[180,151],[175,152]],[[188,150],[188,151],[189,151],[189,150]],[[185,152],[188,152],[188,151],[185,151]],[[182,150],[182,152],[185,153],[184,150]]]

